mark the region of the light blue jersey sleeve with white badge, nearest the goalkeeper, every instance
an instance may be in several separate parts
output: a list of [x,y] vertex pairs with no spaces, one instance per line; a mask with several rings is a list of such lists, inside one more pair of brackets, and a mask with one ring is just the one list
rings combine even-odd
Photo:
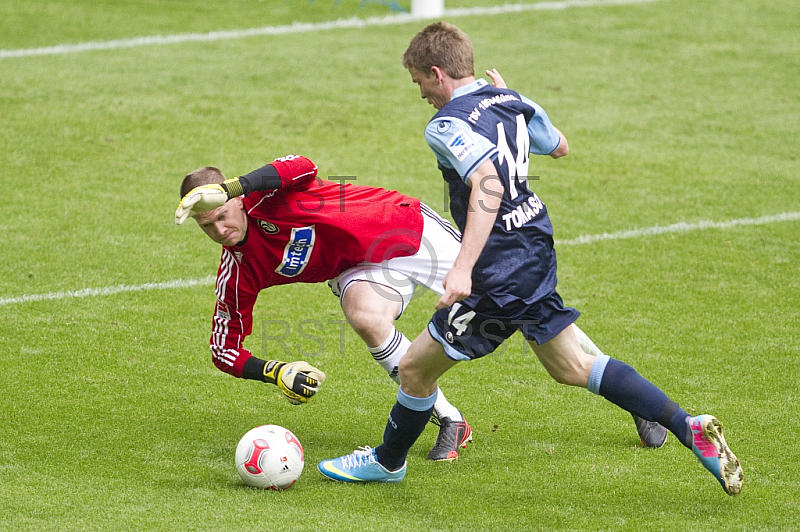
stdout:
[[497,146],[492,141],[476,133],[463,120],[453,117],[431,120],[425,128],[425,140],[439,164],[457,171],[464,181],[497,153]]

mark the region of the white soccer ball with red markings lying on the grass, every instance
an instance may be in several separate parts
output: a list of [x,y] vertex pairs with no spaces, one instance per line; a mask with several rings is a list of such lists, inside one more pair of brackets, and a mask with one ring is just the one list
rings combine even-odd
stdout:
[[304,465],[300,440],[278,425],[251,429],[236,446],[236,471],[254,488],[288,489],[300,477]]

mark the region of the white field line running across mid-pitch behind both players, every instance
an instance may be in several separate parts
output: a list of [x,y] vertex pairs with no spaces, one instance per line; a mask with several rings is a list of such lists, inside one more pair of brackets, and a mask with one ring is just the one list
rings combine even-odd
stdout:
[[[568,240],[556,240],[559,246],[576,246],[581,244],[592,244],[603,240],[625,240],[630,238],[640,238],[646,236],[663,235],[668,233],[689,233],[692,231],[704,231],[706,229],[733,229],[739,226],[766,225],[779,222],[791,222],[800,220],[800,212],[784,212],[760,216],[758,218],[739,218],[724,222],[701,221],[693,223],[676,223],[665,226],[643,227],[641,229],[631,229],[618,233],[602,233],[596,235],[583,235]],[[8,297],[0,299],[0,307],[12,305],[14,303],[30,303],[33,301],[51,301],[54,299],[73,299],[79,297],[109,296],[122,292],[141,292],[145,290],[169,290],[173,288],[189,288],[193,286],[211,286],[214,284],[215,277],[209,275],[197,279],[178,279],[175,281],[164,281],[161,283],[145,283],[139,285],[117,285],[104,288],[85,288],[83,290],[64,290],[60,292],[50,292],[49,294],[31,294],[18,297]]]

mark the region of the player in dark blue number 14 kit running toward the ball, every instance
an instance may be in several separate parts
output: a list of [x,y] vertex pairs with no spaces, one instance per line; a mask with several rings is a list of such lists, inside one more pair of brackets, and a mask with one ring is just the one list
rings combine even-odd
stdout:
[[579,312],[565,307],[556,291],[547,208],[527,184],[529,153],[566,155],[564,135],[536,103],[502,83],[476,80],[472,45],[455,26],[439,22],[423,29],[403,65],[422,98],[438,109],[425,138],[449,186],[461,250],[427,330],[400,362],[401,386],[383,444],[324,460],[320,472],[346,482],[402,480],[408,450],[433,409],[438,378],[520,330],[557,382],[588,388],[643,422],[666,427],[726,493],[738,495],[742,469],[715,417],[690,416],[628,364],[581,349],[572,326]]

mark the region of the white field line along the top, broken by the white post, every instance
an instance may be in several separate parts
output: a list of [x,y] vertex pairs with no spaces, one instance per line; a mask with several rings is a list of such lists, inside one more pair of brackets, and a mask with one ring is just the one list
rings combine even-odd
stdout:
[[[445,10],[445,17],[472,17],[503,15],[508,13],[521,13],[524,11],[553,11],[571,7],[594,7],[607,5],[645,4],[657,0],[563,0],[560,2],[538,2],[534,4],[506,4],[496,7],[470,7]],[[147,37],[133,37],[113,41],[91,41],[77,44],[58,44],[40,48],[20,48],[16,50],[0,50],[0,59],[12,57],[30,57],[38,55],[62,55],[77,52],[96,50],[115,50],[118,48],[135,48],[139,46],[154,46],[164,44],[178,44],[185,42],[209,42],[244,39],[263,35],[286,35],[292,33],[307,33],[328,31],[343,28],[366,28],[371,26],[390,26],[405,24],[420,20],[410,13],[387,15],[384,17],[348,18],[329,22],[294,22],[284,26],[263,26],[242,30],[212,31],[208,33],[180,33],[176,35],[153,35]]]

